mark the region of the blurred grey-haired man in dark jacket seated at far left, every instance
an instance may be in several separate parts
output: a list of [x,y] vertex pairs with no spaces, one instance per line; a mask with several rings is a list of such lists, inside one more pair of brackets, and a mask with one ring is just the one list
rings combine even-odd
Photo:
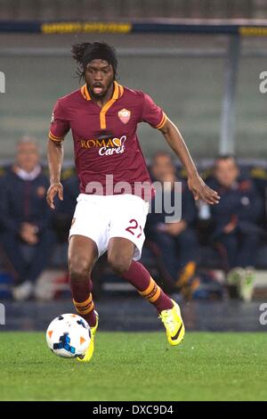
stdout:
[[32,295],[53,250],[51,210],[45,201],[48,185],[36,140],[22,137],[12,168],[0,180],[1,253],[14,276],[16,300]]

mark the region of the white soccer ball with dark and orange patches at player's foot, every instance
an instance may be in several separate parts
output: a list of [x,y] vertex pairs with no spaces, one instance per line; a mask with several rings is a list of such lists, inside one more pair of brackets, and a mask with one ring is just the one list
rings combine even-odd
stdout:
[[46,331],[48,348],[59,357],[84,355],[90,341],[90,326],[83,317],[75,314],[54,318]]

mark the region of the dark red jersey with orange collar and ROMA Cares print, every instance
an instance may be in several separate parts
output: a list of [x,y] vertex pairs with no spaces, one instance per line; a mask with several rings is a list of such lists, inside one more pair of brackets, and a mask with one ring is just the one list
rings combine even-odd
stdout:
[[136,136],[139,122],[160,128],[166,114],[148,94],[116,81],[112,98],[102,108],[93,102],[86,85],[57,101],[49,138],[61,142],[71,129],[81,193],[92,193],[90,183],[100,183],[103,193],[109,193],[107,175],[113,176],[114,185],[127,182],[134,188],[135,183],[150,183]]

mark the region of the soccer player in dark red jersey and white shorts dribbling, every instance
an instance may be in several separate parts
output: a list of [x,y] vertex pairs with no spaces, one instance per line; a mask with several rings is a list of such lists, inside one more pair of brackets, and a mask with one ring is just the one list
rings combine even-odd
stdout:
[[150,185],[136,136],[138,123],[148,122],[165,136],[187,170],[195,199],[214,204],[219,196],[198,176],[179,130],[164,111],[148,94],[117,83],[113,47],[100,42],[77,44],[72,46],[72,56],[85,85],[61,97],[53,109],[47,148],[51,182],[47,202],[54,209],[55,195],[63,200],[62,142],[71,129],[80,194],[69,231],[70,288],[77,313],[88,322],[93,335],[85,355],[77,359],[87,362],[93,356],[98,314],[93,305],[91,272],[105,251],[115,273],[132,283],[158,310],[169,343],[178,345],[185,332],[180,308],[137,261],[145,239],[149,202],[144,193],[134,194],[135,186]]

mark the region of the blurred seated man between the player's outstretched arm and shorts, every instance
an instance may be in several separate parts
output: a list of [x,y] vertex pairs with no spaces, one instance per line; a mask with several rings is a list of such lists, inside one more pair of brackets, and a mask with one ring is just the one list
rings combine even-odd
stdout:
[[196,269],[198,238],[194,224],[198,210],[186,182],[177,178],[174,161],[170,154],[157,152],[152,158],[150,172],[154,182],[170,183],[170,191],[165,189],[163,193],[171,193],[173,202],[174,182],[179,180],[182,183],[182,219],[174,223],[166,223],[166,217],[170,214],[166,214],[164,207],[160,213],[156,213],[155,200],[152,200],[151,213],[146,225],[148,239],[155,242],[160,251],[161,264],[166,271],[166,281],[172,283],[174,288],[181,288],[189,282]]

